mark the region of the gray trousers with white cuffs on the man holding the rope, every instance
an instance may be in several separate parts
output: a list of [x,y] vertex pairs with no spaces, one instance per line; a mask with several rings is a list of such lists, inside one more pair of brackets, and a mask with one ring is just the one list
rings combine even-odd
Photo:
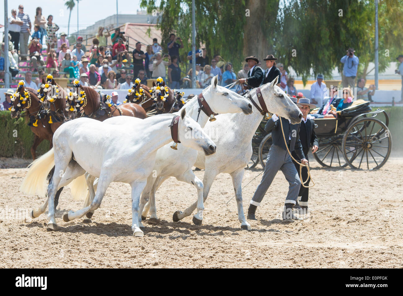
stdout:
[[258,188],[256,188],[255,194],[253,194],[251,204],[260,206],[260,202],[266,194],[267,189],[269,189],[272,184],[278,170],[283,172],[285,179],[287,179],[289,183],[285,203],[296,203],[299,187],[301,187],[298,172],[287,150],[284,150],[280,146],[272,145],[267,156],[262,181],[260,181]]

